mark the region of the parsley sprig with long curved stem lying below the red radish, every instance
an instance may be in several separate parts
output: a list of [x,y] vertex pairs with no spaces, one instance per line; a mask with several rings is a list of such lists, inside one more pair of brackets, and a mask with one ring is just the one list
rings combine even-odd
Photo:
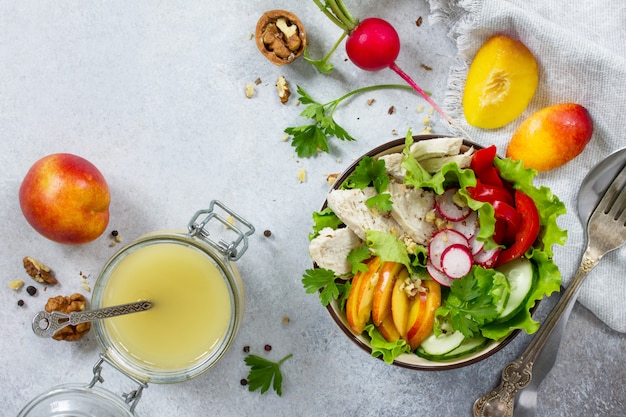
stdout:
[[315,156],[319,151],[328,153],[328,140],[332,137],[347,141],[355,140],[354,137],[337,124],[333,118],[337,106],[339,106],[342,101],[356,94],[390,88],[412,91],[411,87],[402,84],[372,85],[350,91],[335,100],[322,104],[298,85],[297,92],[300,95],[299,101],[307,105],[300,113],[300,116],[311,119],[313,123],[285,129],[285,133],[292,136],[291,145],[296,148],[296,154],[301,158],[308,158]]

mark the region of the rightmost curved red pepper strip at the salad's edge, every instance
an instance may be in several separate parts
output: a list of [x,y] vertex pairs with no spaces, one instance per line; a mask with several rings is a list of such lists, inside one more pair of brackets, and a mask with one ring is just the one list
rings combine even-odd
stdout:
[[515,243],[500,252],[495,266],[503,265],[522,256],[530,249],[539,235],[539,212],[533,199],[523,192],[515,190],[515,208],[521,217],[519,228],[515,234]]

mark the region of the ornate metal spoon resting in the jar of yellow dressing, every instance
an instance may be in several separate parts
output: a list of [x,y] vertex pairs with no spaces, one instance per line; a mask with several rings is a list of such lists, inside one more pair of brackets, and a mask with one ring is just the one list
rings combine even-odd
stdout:
[[152,308],[152,302],[142,300],[129,304],[99,308],[97,310],[74,311],[70,314],[53,311],[40,311],[33,317],[33,331],[37,336],[51,337],[60,329],[86,323],[88,321],[107,319],[124,314],[139,313]]

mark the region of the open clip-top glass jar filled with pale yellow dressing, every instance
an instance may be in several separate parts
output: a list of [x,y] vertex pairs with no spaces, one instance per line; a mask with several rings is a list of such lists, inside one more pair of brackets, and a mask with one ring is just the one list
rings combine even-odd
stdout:
[[[235,261],[253,233],[250,223],[214,200],[194,214],[186,232],[149,233],[115,253],[94,284],[91,308],[140,300],[152,307],[94,321],[102,354],[91,383],[55,387],[19,416],[134,415],[149,382],[178,383],[214,366],[243,319],[244,289]],[[102,362],[139,384],[125,401],[95,386],[102,381]]]

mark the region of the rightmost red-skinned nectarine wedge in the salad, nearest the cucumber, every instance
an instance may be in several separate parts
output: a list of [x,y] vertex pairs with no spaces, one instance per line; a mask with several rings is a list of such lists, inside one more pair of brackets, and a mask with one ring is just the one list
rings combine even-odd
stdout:
[[417,347],[430,335],[435,324],[435,310],[441,306],[441,286],[432,280],[422,281],[426,292],[415,297],[408,318],[406,339],[411,349]]

